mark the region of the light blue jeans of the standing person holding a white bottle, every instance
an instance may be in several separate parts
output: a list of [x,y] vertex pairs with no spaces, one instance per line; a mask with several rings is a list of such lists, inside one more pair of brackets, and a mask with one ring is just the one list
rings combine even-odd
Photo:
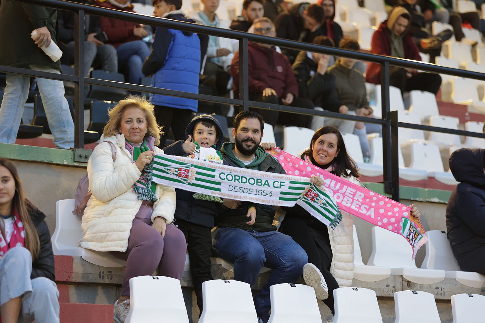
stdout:
[[[34,71],[58,73],[58,70],[42,65],[30,65]],[[0,142],[15,143],[24,105],[27,101],[30,77],[6,74],[7,86],[0,108]],[[64,97],[64,83],[37,77],[40,96],[46,110],[49,128],[57,148],[74,147],[74,122],[67,100]]]

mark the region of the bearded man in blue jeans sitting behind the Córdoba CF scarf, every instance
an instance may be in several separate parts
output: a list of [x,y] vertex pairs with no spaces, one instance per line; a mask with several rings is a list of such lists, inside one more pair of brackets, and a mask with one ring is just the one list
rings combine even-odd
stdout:
[[[225,142],[221,148],[224,161],[232,167],[285,174],[278,161],[259,146],[263,130],[264,120],[258,113],[240,112],[232,128],[235,142]],[[311,183],[314,181],[312,177]],[[219,223],[213,231],[217,256],[234,263],[235,280],[253,285],[263,266],[274,269],[254,298],[259,323],[267,323],[269,319],[270,287],[294,283],[307,263],[305,251],[290,236],[276,231],[272,225],[274,217],[272,205],[224,199],[219,207]]]

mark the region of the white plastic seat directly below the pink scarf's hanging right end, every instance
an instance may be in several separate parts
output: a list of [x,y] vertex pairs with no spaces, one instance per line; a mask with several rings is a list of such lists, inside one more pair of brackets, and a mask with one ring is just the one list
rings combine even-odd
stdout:
[[[396,226],[392,222],[389,228]],[[372,254],[367,264],[391,267],[392,275],[402,275],[405,279],[420,285],[435,284],[445,279],[444,270],[420,269],[412,259],[413,251],[407,240],[381,227],[372,228]]]

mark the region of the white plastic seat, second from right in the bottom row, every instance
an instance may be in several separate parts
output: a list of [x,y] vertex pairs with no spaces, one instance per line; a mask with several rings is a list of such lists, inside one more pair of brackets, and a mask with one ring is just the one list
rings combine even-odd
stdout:
[[429,292],[401,291],[394,293],[395,323],[441,323],[435,297]]

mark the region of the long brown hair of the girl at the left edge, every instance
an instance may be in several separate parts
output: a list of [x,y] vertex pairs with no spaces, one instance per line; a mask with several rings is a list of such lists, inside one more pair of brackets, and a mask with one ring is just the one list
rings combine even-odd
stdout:
[[[5,158],[0,158],[0,166],[5,167],[10,171],[12,177],[15,180],[15,195],[12,199],[12,213],[14,210],[17,212],[17,215],[20,217],[20,221],[24,225],[25,231],[25,247],[30,251],[32,255],[32,261],[37,259],[40,251],[40,241],[39,235],[35,230],[35,227],[32,223],[32,218],[29,215],[29,209],[35,209],[36,207],[32,204],[31,201],[27,200],[25,197],[25,192],[22,187],[22,182],[20,181],[20,177],[18,176],[18,172],[14,163],[10,160]],[[5,237],[4,230],[0,227],[1,234]]]

